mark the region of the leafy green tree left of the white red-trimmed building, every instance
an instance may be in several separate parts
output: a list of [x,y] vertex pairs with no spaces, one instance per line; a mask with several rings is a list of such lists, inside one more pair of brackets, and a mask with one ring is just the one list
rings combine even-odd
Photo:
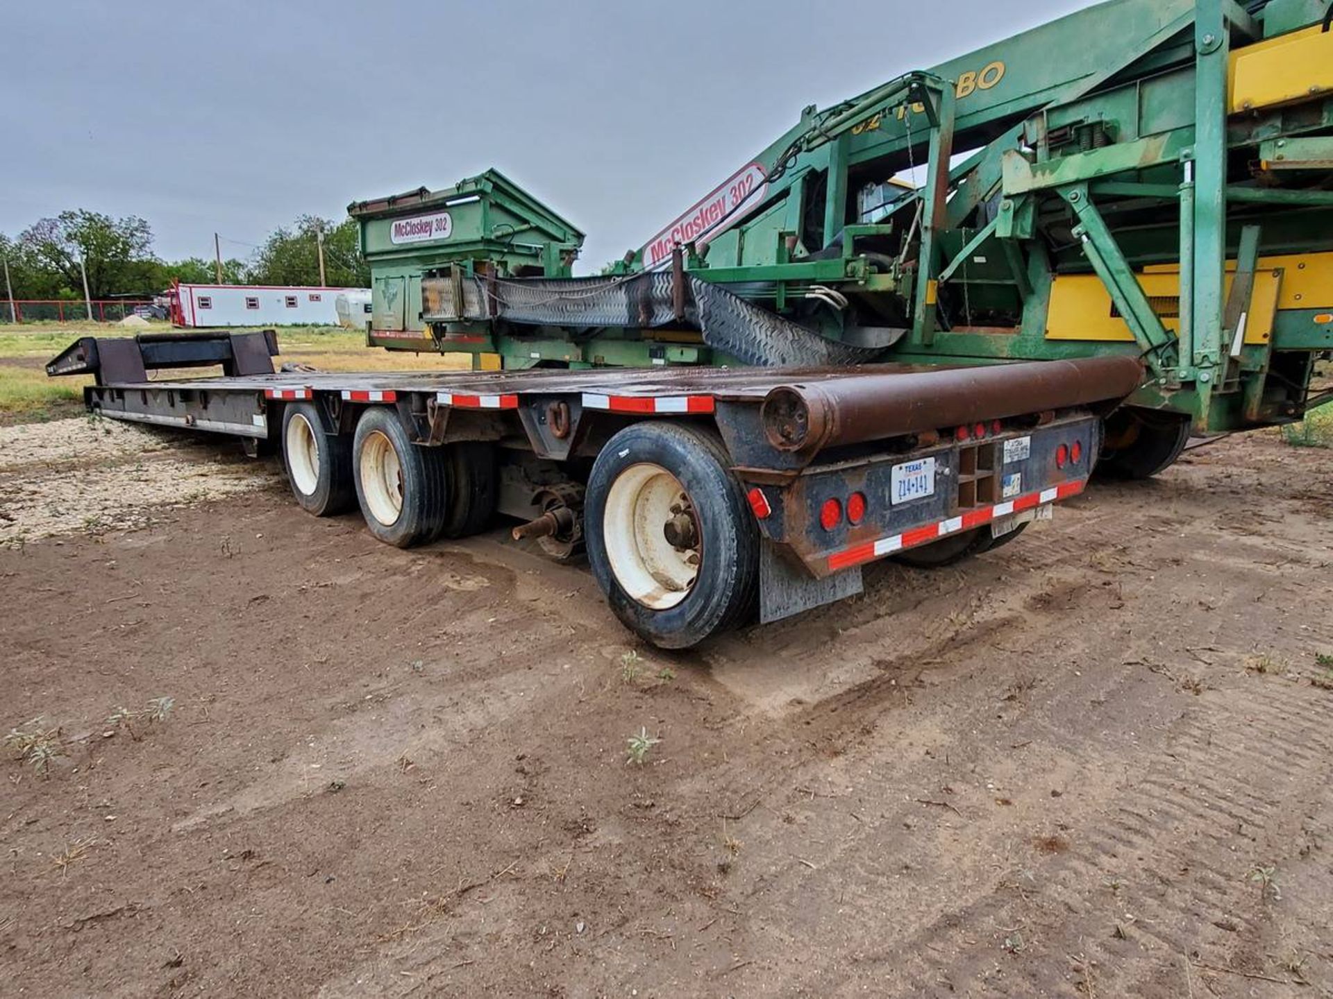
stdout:
[[40,218],[19,236],[19,244],[44,270],[59,274],[76,296],[83,293],[80,260],[88,269],[93,298],[140,293],[152,281],[153,233],[137,216],[112,218],[76,209]]

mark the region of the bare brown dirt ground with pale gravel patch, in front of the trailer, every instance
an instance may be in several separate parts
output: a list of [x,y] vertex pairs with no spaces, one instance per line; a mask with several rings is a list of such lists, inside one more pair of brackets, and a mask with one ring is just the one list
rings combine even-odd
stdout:
[[67,755],[0,765],[8,995],[1333,995],[1326,450],[665,655],[503,531],[399,551],[44,426],[0,441],[0,726]]

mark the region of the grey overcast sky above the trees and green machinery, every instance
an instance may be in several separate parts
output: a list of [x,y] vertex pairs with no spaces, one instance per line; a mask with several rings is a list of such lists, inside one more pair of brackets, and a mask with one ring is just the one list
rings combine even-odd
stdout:
[[496,166],[641,245],[826,105],[1084,0],[4,0],[0,232],[137,214],[165,258]]

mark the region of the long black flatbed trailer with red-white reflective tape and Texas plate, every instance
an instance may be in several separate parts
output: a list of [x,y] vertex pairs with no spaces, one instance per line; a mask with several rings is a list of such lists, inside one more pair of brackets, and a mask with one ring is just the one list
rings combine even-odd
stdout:
[[[272,332],[85,337],[91,412],[280,448],[297,502],[408,547],[496,513],[616,615],[688,647],[861,590],[861,566],[978,554],[1082,492],[1137,360],[989,368],[275,373]],[[149,380],[221,365],[220,377]]]

